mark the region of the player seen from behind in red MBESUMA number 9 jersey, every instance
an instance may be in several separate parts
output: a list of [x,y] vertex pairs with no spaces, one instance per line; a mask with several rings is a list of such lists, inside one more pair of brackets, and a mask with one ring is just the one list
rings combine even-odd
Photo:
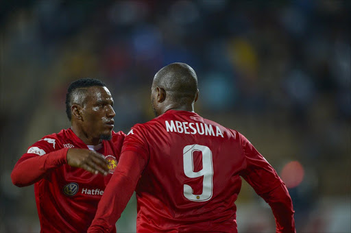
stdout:
[[156,73],[157,117],[125,137],[88,232],[109,232],[134,188],[138,232],[237,232],[241,177],[271,206],[276,232],[295,232],[292,201],[276,171],[242,134],[196,114],[198,95],[189,65]]

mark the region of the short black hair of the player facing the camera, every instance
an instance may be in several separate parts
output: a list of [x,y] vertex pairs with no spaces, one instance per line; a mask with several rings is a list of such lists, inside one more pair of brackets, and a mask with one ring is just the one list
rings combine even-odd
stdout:
[[69,121],[71,121],[72,119],[71,104],[72,104],[73,92],[77,88],[86,88],[90,86],[106,86],[106,84],[104,84],[104,82],[102,82],[99,79],[84,77],[82,79],[75,80],[69,85],[69,88],[67,89],[67,94],[66,94],[66,114],[67,114],[67,117],[69,118]]

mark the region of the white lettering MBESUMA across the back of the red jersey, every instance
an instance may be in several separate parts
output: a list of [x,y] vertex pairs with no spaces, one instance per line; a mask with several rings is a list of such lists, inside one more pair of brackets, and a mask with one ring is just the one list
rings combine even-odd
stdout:
[[221,136],[223,132],[218,126],[206,123],[193,123],[186,121],[165,121],[167,132],[178,132],[180,134],[200,134],[209,136]]

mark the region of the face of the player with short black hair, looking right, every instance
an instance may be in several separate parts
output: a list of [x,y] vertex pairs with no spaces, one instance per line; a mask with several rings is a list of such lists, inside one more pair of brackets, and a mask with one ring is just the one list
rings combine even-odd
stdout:
[[92,86],[84,100],[82,108],[82,127],[88,138],[111,138],[114,126],[113,117],[116,115],[112,108],[113,99],[108,88]]

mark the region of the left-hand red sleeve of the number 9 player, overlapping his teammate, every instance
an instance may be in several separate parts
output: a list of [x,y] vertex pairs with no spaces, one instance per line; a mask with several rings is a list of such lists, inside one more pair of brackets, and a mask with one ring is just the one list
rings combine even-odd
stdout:
[[110,232],[112,230],[132,197],[146,164],[143,156],[134,151],[125,151],[121,154],[117,169],[99,201],[95,218],[88,233]]

